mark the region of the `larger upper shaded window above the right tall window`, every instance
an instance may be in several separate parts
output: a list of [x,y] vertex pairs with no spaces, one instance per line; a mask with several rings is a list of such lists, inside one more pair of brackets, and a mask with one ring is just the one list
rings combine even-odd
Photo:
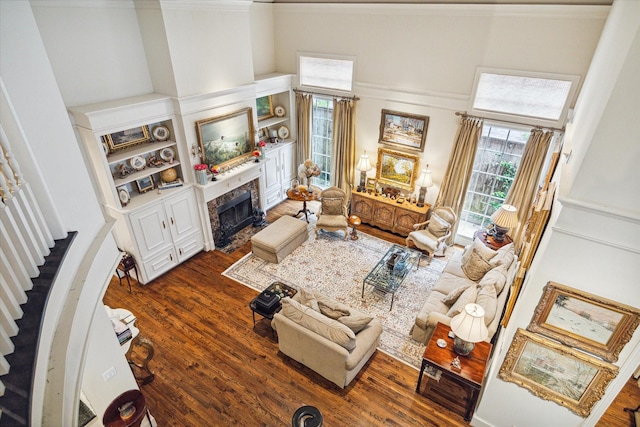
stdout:
[[578,81],[578,76],[479,69],[472,114],[562,127]]

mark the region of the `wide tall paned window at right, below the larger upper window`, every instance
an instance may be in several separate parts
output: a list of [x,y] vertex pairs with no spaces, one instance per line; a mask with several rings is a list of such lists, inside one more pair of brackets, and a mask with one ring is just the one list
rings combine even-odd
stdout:
[[509,193],[529,133],[485,123],[460,214],[458,235],[471,238],[477,230],[491,224],[491,215]]

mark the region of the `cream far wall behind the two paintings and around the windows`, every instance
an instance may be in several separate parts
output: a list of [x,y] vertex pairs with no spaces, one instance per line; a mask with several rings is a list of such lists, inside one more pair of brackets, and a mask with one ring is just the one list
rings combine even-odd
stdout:
[[[584,77],[606,7],[275,4],[278,71],[296,73],[297,52],[354,55],[357,152],[376,158],[380,110],[430,117],[421,164],[436,186],[469,109],[477,67]],[[370,172],[374,176],[375,172]],[[437,188],[427,193],[435,199]]]

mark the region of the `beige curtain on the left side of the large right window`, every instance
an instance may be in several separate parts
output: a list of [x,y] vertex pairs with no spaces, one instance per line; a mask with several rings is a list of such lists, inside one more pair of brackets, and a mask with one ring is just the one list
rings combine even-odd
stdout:
[[[481,119],[470,117],[465,117],[460,121],[453,146],[453,154],[449,158],[447,172],[442,179],[442,187],[436,199],[436,206],[450,207],[458,218],[460,218],[460,212],[462,212],[467,184],[473,169],[473,159],[476,156],[476,148],[482,135],[482,123]],[[451,237],[447,240],[448,245],[453,244],[459,223],[460,221],[456,221]]]

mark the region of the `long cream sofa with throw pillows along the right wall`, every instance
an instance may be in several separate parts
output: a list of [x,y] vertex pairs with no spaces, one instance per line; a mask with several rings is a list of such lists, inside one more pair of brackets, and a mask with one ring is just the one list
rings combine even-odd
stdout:
[[427,297],[411,328],[411,337],[426,343],[438,322],[449,325],[466,304],[475,302],[485,310],[491,341],[502,317],[509,289],[517,272],[513,244],[498,251],[479,240],[454,255]]

